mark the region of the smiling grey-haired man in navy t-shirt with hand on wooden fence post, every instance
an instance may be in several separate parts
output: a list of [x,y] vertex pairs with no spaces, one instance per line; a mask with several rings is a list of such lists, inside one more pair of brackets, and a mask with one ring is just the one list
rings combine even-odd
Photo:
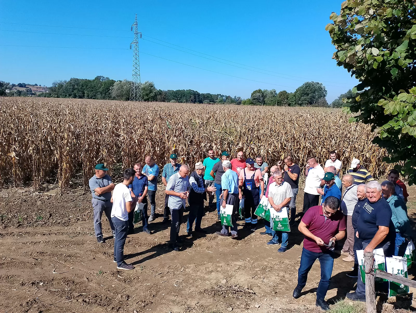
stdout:
[[[362,240],[360,249],[372,252],[374,249],[383,248],[384,255],[389,256],[390,237],[395,233],[390,205],[382,196],[381,185],[375,180],[366,184],[366,196],[367,200],[363,203],[357,222],[356,236]],[[347,293],[347,298],[365,302],[365,285],[360,275],[357,278],[356,291]]]

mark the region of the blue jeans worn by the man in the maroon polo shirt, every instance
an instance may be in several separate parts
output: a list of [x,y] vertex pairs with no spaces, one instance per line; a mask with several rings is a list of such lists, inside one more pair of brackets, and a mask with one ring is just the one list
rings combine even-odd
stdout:
[[316,259],[319,259],[319,264],[321,265],[321,280],[319,281],[316,298],[317,300],[324,300],[327,295],[329,283],[331,283],[332,269],[334,267],[334,255],[332,251],[312,252],[303,248],[297,274],[297,286],[300,288],[305,287],[308,273]]

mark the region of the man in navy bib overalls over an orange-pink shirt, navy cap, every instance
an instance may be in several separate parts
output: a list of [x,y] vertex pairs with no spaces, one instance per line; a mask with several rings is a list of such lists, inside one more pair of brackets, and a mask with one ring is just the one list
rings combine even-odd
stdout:
[[[244,196],[244,219],[243,228],[256,230],[257,215],[254,214],[260,202],[260,195],[264,195],[264,181],[260,168],[254,167],[252,158],[245,160],[246,168],[241,170],[238,182],[238,193],[240,200]],[[260,190],[261,193],[260,193]]]

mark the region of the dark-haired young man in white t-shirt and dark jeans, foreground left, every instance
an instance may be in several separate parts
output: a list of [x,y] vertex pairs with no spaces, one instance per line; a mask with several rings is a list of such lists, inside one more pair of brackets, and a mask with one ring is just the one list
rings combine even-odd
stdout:
[[134,269],[134,266],[124,262],[124,244],[126,243],[127,233],[129,232],[129,213],[134,210],[131,205],[129,186],[133,180],[136,171],[132,168],[124,170],[124,181],[114,187],[111,202],[111,221],[113,221],[116,235],[114,237],[114,263],[117,263],[117,269]]

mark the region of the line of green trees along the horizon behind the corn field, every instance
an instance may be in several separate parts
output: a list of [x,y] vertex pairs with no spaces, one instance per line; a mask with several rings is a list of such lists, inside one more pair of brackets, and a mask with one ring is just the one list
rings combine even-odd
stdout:
[[[19,83],[23,85],[22,83]],[[26,85],[26,84],[25,84]],[[0,81],[0,96],[7,96],[5,89],[11,89],[10,85]],[[97,76],[94,79],[71,78],[68,81],[55,81],[49,91],[38,94],[38,97],[47,98],[76,98],[98,100],[129,101],[131,81],[109,79],[109,77]],[[27,96],[21,92],[18,96]],[[239,96],[227,96],[223,94],[200,93],[195,90],[161,90],[156,89],[154,82],[141,83],[141,94],[144,101],[173,102],[173,103],[200,103],[200,104],[241,104],[260,106],[321,106],[342,107],[342,101],[346,96],[353,96],[349,90],[340,95],[332,104],[326,100],[327,90],[322,83],[307,81],[299,86],[295,92],[275,89],[257,89],[251,93],[250,98],[242,99]],[[9,95],[10,96],[10,95]]]

